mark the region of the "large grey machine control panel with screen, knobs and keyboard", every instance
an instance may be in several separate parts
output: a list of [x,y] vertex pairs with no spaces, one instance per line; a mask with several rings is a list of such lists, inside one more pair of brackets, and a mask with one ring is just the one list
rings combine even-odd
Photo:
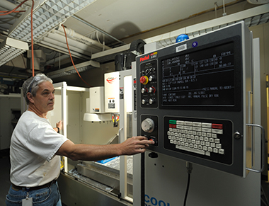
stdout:
[[150,151],[246,176],[251,44],[240,22],[137,56],[137,135]]

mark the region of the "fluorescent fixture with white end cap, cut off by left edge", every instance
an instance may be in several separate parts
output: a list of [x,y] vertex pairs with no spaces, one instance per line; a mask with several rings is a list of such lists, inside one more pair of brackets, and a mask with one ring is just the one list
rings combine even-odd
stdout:
[[28,50],[28,43],[6,38],[0,44],[0,66]]

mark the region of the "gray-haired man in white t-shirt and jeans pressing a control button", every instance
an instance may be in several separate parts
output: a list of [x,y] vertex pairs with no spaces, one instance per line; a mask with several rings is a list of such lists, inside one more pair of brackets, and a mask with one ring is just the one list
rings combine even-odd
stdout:
[[23,84],[28,110],[18,120],[10,147],[11,188],[6,205],[62,205],[57,185],[60,156],[72,160],[95,161],[145,151],[153,141],[132,137],[121,144],[74,144],[60,135],[62,122],[52,128],[47,112],[53,110],[55,88],[45,74],[37,74]]

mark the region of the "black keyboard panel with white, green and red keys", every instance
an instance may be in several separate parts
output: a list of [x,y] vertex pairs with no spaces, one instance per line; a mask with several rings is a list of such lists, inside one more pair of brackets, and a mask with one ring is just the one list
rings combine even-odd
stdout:
[[164,148],[231,164],[232,125],[230,120],[164,117]]

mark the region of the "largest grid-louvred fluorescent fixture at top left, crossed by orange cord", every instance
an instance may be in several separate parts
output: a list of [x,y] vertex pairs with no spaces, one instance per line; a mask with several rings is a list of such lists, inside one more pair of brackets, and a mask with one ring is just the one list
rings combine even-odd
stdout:
[[[44,0],[35,1],[33,11],[33,40],[42,38],[47,32],[63,23],[67,18],[96,0]],[[30,42],[30,8],[9,30],[8,37]]]

